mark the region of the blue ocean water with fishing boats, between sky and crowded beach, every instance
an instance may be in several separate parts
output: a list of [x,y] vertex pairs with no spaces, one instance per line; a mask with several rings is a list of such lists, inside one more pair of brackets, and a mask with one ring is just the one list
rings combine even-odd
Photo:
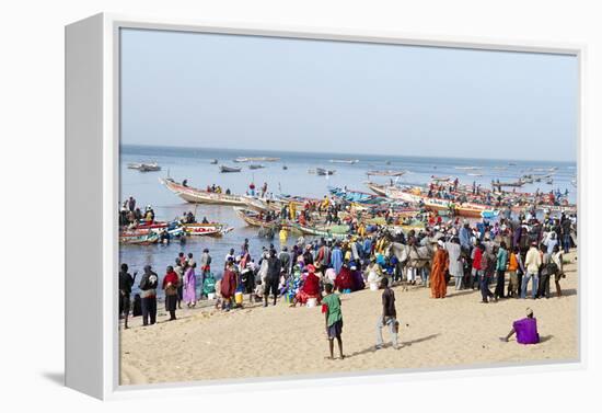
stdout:
[[[264,156],[280,158],[280,160],[277,162],[255,162],[266,167],[259,170],[250,170],[248,163],[232,161],[236,157]],[[218,159],[219,163],[217,165],[210,164],[211,159]],[[359,162],[355,164],[331,163],[331,159],[358,159]],[[162,170],[142,173],[127,169],[127,164],[131,162],[151,161],[157,161]],[[509,163],[514,164],[510,165]],[[220,164],[242,167],[242,172],[220,173]],[[287,165],[288,169],[283,170],[282,165]],[[229,250],[233,248],[238,253],[245,238],[250,240],[251,254],[255,259],[258,259],[262,246],[268,246],[270,242],[280,248],[278,237],[273,241],[258,238],[257,230],[246,227],[235,215],[232,207],[188,204],[164,187],[159,182],[159,177],[171,176],[177,182],[187,179],[189,186],[199,188],[216,184],[224,191],[230,188],[235,194],[244,194],[251,182],[254,182],[257,188],[265,182],[268,184],[268,192],[275,194],[283,193],[322,198],[328,194],[328,186],[346,185],[349,190],[370,192],[366,187],[366,172],[370,170],[406,170],[408,173],[400,182],[409,184],[426,184],[431,175],[452,176],[452,179],[458,176],[463,184],[472,184],[474,181],[482,184],[483,187],[489,188],[491,180],[516,181],[525,173],[544,173],[529,171],[530,169],[555,167],[557,171],[554,174],[553,185],[540,182],[526,184],[520,191],[535,192],[539,188],[546,192],[560,190],[564,193],[565,190],[568,190],[569,200],[576,202],[577,199],[577,188],[571,185],[571,180],[575,179],[577,173],[575,162],[121,146],[120,167],[120,199],[124,200],[131,195],[141,209],[147,205],[152,205],[158,220],[172,220],[186,211],[193,211],[197,220],[207,217],[209,221],[218,221],[234,228],[233,231],[221,238],[187,238],[184,245],[180,242],[173,242],[169,245],[120,245],[120,262],[127,263],[130,272],[138,271],[137,282],[142,274],[142,267],[147,264],[151,265],[162,276],[166,266],[175,261],[181,251],[192,252],[198,257],[202,249],[208,248],[213,260],[213,273],[219,277]],[[482,169],[463,170],[456,169],[458,167],[478,167]],[[336,172],[327,177],[308,173],[309,169],[315,168],[336,170]],[[483,174],[483,176],[470,175],[474,173]],[[373,176],[372,181],[385,183],[389,177]],[[296,240],[296,237],[289,237],[286,243],[290,246]]]

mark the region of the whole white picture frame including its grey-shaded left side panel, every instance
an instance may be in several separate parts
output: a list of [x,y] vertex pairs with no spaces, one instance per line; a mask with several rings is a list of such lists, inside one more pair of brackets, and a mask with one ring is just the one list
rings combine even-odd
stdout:
[[[447,375],[517,374],[524,369],[551,371],[583,368],[583,309],[579,294],[579,359],[524,367],[470,366],[466,369],[358,372],[332,377],[297,376],[278,379],[220,380],[152,386],[119,386],[117,284],[118,234],[115,222],[119,188],[119,30],[150,28],[197,33],[221,33],[384,43],[471,49],[511,50],[574,55],[579,65],[578,205],[579,239],[586,239],[588,219],[584,198],[586,140],[583,137],[583,59],[579,44],[510,42],[461,36],[429,36],[401,33],[359,32],[336,28],[232,25],[216,22],[175,21],[119,14],[96,14],[66,27],[66,385],[99,399],[141,397],[152,393],[195,393],[286,389],[332,383],[415,380]],[[99,219],[90,220],[90,217]],[[92,221],[86,231],[81,222]],[[580,250],[583,254],[583,249]],[[580,256],[581,273],[583,259]],[[82,268],[85,268],[82,271]],[[587,288],[579,277],[579,291]],[[82,291],[86,291],[82,294]],[[481,367],[481,368],[479,368]],[[216,386],[219,385],[219,386]]]

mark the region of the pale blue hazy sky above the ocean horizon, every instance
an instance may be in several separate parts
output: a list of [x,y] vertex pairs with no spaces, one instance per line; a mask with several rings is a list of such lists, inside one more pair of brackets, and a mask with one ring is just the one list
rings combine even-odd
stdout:
[[574,161],[574,56],[124,30],[121,142]]

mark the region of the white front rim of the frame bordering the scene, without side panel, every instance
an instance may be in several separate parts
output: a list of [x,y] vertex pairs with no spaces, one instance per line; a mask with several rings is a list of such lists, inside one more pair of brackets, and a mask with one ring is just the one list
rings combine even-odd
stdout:
[[[128,399],[138,397],[169,397],[175,394],[202,394],[223,392],[246,392],[287,390],[316,386],[339,386],[357,383],[380,383],[395,380],[398,382],[422,379],[450,379],[461,377],[477,377],[490,375],[516,375],[525,372],[547,372],[583,369],[587,367],[587,324],[586,295],[581,291],[587,288],[587,280],[578,279],[578,335],[579,352],[575,360],[554,360],[552,363],[533,363],[525,366],[495,365],[495,366],[465,366],[433,369],[395,369],[379,371],[357,371],[346,375],[316,375],[276,378],[254,378],[244,380],[216,380],[174,382],[148,386],[119,386],[119,343],[117,289],[114,269],[118,264],[117,229],[114,225],[117,219],[116,208],[119,191],[119,36],[120,28],[147,28],[185,31],[196,33],[221,33],[233,35],[254,35],[266,37],[292,37],[308,39],[325,39],[340,42],[384,43],[400,45],[416,45],[431,47],[472,48],[487,50],[524,51],[574,55],[578,59],[578,122],[577,122],[577,181],[578,181],[578,274],[584,272],[587,256],[581,248],[587,239],[587,227],[582,221],[588,218],[586,197],[586,153],[587,141],[584,135],[584,90],[586,90],[586,54],[584,44],[540,42],[528,39],[490,39],[454,35],[428,35],[391,33],[377,31],[359,31],[355,28],[324,28],[302,26],[278,26],[275,24],[257,23],[227,23],[216,21],[189,21],[174,19],[155,19],[115,13],[102,13],[103,24],[103,398],[107,400]],[[72,252],[67,252],[72,253]]]

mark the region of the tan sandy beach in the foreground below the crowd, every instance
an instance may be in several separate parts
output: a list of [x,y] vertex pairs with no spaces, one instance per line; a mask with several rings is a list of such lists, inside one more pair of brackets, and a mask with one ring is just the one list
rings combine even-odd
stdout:
[[[328,360],[324,316],[320,308],[248,307],[230,312],[204,308],[178,310],[169,322],[159,303],[158,323],[141,326],[130,319],[121,330],[121,385],[193,380],[278,377],[385,369],[508,365],[578,358],[578,296],[576,254],[565,260],[564,296],[539,300],[503,299],[482,305],[479,291],[455,291],[431,299],[430,289],[394,287],[401,321],[401,349],[374,351],[381,292],[343,295],[344,360]],[[531,307],[542,343],[502,343],[513,320]],[[389,331],[383,329],[385,343]],[[336,355],[336,352],[335,352]]]

